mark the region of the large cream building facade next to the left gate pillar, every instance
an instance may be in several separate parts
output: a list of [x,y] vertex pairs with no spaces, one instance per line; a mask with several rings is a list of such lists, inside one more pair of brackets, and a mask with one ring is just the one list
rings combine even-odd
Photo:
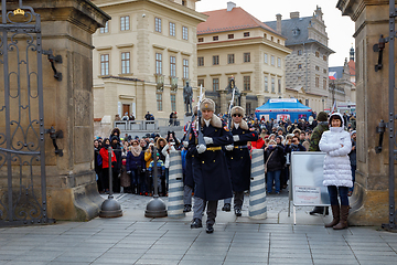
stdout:
[[115,119],[150,112],[183,117],[183,86],[196,93],[196,26],[206,15],[196,0],[94,0],[111,15],[93,36],[94,118],[96,135],[106,135]]

